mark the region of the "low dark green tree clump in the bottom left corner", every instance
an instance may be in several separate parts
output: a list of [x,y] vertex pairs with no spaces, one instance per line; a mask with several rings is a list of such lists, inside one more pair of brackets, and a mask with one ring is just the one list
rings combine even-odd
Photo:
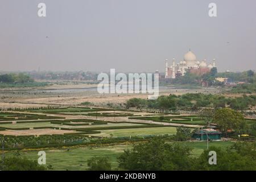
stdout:
[[[2,163],[2,162],[1,162]],[[44,166],[40,166],[36,160],[26,158],[11,157],[5,158],[3,169],[5,171],[46,171]]]

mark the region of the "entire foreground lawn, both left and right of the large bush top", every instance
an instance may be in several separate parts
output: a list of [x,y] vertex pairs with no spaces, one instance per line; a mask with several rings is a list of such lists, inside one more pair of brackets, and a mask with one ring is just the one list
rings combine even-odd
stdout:
[[[193,148],[192,155],[198,156],[206,149],[206,142],[180,142]],[[210,142],[209,146],[229,147],[233,142]],[[132,145],[114,145],[103,147],[83,147],[83,148],[67,148],[61,150],[46,150],[46,163],[51,164],[53,170],[86,170],[86,160],[93,156],[107,156],[112,162],[112,168],[117,169],[117,157],[122,154],[124,149],[131,148]],[[20,156],[28,159],[38,159],[38,151],[20,151]],[[14,151],[7,152],[6,156],[15,155]]]

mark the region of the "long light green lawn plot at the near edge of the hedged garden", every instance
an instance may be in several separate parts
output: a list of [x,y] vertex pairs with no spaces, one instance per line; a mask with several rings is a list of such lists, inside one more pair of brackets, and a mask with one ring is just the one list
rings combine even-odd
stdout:
[[110,134],[113,134],[113,137],[129,137],[137,135],[164,135],[176,134],[176,127],[151,127],[151,128],[142,128],[142,129],[118,129],[118,130],[100,130],[101,134],[93,134],[94,136],[110,137]]

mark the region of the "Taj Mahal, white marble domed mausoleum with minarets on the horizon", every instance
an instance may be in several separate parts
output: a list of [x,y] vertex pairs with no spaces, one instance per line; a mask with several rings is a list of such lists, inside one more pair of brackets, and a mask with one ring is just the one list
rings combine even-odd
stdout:
[[195,73],[196,75],[204,75],[210,72],[210,69],[216,67],[215,59],[212,63],[207,64],[207,60],[199,61],[196,60],[196,55],[189,51],[185,53],[184,59],[180,63],[175,63],[176,60],[172,59],[172,65],[168,65],[166,60],[166,73],[165,78],[176,78],[177,76],[184,76],[186,72]]

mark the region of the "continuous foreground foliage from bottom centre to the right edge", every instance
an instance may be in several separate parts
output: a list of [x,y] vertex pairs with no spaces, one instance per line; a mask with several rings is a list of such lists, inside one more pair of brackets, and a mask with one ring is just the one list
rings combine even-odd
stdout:
[[[210,147],[199,157],[192,148],[154,138],[135,145],[119,156],[119,167],[127,170],[256,170],[255,143],[239,142],[226,149]],[[216,151],[217,164],[209,164],[209,151]]]

